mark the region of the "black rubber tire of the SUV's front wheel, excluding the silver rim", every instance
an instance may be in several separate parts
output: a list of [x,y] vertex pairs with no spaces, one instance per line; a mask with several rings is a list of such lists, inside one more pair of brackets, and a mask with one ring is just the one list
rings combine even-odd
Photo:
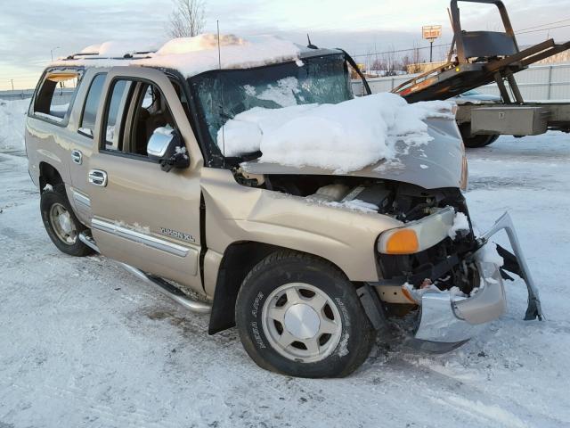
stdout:
[[[336,348],[323,355],[321,360],[303,362],[300,358],[284,357],[267,337],[264,305],[266,302],[270,304],[267,300],[272,292],[291,283],[310,284],[336,305],[335,311],[342,321],[340,339]],[[326,306],[322,310],[325,309]],[[235,319],[243,347],[258,366],[297,377],[343,377],[351,374],[366,360],[376,337],[354,284],[327,261],[296,251],[274,252],[249,272],[238,293]],[[330,349],[333,346],[331,343]]]

